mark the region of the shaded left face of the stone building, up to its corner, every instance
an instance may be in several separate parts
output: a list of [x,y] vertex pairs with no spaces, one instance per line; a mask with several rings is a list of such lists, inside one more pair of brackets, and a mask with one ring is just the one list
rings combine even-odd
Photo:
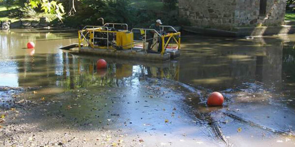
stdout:
[[235,0],[179,0],[179,15],[194,26],[231,28],[235,10]]

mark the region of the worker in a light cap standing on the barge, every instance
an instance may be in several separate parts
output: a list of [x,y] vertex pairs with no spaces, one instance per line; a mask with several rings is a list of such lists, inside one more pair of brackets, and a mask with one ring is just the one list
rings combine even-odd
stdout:
[[[162,25],[161,20],[156,20],[156,23],[150,25],[149,29],[154,29],[157,32],[160,32],[160,30],[161,30],[160,25]],[[158,37],[157,38],[157,40],[158,40],[157,42],[159,42],[158,52],[161,52],[162,40],[159,38],[160,36],[158,36],[154,30],[149,31],[149,33],[148,33],[148,52],[150,52],[151,49],[153,48],[153,46],[155,46],[155,44],[156,44],[156,43],[154,43],[154,39],[152,39],[155,37]]]

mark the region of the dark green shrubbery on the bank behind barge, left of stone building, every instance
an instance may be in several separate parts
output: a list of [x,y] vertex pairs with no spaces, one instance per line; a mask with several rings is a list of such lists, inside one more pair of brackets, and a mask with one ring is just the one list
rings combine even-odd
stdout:
[[[143,1],[143,2],[141,2]],[[64,19],[71,27],[100,25],[98,18],[108,23],[126,23],[130,27],[148,27],[161,19],[164,24],[178,25],[178,10],[167,9],[161,0],[81,0],[82,9],[76,16]],[[82,21],[81,21],[82,20]]]

